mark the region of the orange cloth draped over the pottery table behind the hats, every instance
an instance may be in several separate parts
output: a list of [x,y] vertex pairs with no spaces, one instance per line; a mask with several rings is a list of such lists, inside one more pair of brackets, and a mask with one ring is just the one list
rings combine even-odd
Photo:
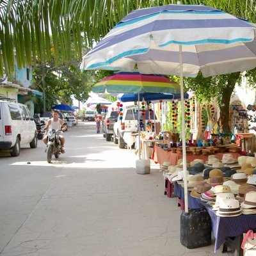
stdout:
[[[218,158],[221,160],[223,154],[226,154],[226,153],[216,153],[214,155],[218,156]],[[236,159],[237,159],[237,157],[240,156],[239,153],[228,152],[228,154],[232,154],[232,156]],[[177,154],[177,153],[173,153],[170,151],[168,152],[168,151],[163,150],[163,148],[157,147],[156,145],[154,145],[151,158],[153,159],[153,161],[155,163],[163,164],[164,161],[167,161],[167,162],[170,162],[172,165],[176,165],[178,163],[178,160],[182,159],[182,154]],[[202,160],[204,160],[204,163],[205,163],[208,160],[208,156],[187,155],[186,159],[189,161],[189,163],[195,159],[202,159]]]

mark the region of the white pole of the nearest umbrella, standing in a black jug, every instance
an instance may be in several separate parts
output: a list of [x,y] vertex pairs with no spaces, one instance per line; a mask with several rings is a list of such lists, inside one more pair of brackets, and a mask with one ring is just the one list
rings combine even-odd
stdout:
[[188,183],[187,183],[187,157],[186,157],[186,131],[184,118],[184,92],[183,92],[183,60],[182,45],[179,45],[179,61],[180,61],[180,99],[181,99],[181,134],[182,134],[182,161],[183,161],[183,180],[184,180],[184,204],[185,212],[188,213]]

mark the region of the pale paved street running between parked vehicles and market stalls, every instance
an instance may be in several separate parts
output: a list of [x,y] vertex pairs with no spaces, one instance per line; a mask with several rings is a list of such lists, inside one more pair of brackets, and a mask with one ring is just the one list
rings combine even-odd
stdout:
[[163,195],[158,166],[136,174],[136,156],[96,134],[94,122],[65,138],[66,153],[51,164],[42,141],[19,157],[0,153],[0,255],[221,255],[214,244],[180,244],[181,212]]

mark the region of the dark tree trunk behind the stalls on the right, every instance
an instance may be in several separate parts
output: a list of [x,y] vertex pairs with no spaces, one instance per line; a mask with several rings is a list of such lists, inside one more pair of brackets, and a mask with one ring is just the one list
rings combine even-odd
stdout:
[[240,72],[229,74],[228,76],[228,84],[225,89],[223,89],[223,94],[221,97],[220,104],[220,132],[223,133],[231,133],[231,129],[229,126],[229,105],[230,98],[234,91],[237,79],[239,78]]

